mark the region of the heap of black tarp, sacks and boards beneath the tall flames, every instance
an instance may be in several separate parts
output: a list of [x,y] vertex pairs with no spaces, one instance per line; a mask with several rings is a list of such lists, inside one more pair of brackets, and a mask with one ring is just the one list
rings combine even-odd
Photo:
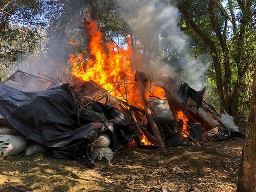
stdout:
[[[196,91],[185,82],[177,84],[178,90],[174,84],[167,86],[167,99],[147,100],[166,147],[243,137],[232,116],[215,111],[204,101],[205,89]],[[131,122],[128,109],[142,133],[134,119]],[[0,155],[44,151],[93,167],[93,160],[105,157],[110,161],[113,151],[128,143],[157,147],[153,135],[143,109],[130,108],[93,81],[74,79],[70,86],[17,71],[0,83]]]

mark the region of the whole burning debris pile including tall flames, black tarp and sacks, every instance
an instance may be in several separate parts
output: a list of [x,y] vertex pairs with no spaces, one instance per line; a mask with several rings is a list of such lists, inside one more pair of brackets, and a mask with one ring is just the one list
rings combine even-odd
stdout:
[[70,54],[68,84],[26,80],[32,76],[20,71],[0,84],[2,155],[45,151],[93,167],[96,158],[110,161],[122,148],[158,147],[165,155],[166,147],[241,136],[233,117],[204,101],[205,88],[133,73],[130,38],[124,49],[104,42],[95,21],[84,19],[84,29],[90,55]]

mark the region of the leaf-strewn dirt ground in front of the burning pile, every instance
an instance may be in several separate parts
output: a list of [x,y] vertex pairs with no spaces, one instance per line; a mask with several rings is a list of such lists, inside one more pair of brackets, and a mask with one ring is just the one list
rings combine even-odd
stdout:
[[[244,123],[238,125],[244,132]],[[235,191],[243,140],[204,143],[201,147],[119,151],[114,160],[89,169],[75,160],[53,157],[2,158],[0,191]],[[15,189],[15,187],[17,189]]]

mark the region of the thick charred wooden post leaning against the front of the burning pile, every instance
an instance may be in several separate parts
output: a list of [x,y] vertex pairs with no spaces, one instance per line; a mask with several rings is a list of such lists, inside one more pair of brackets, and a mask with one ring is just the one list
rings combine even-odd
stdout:
[[145,97],[145,88],[146,88],[146,81],[145,81],[145,78],[143,78],[143,74],[142,73],[137,73],[137,76],[138,76],[138,79],[139,79],[139,82],[140,82],[140,91],[141,91],[141,96],[142,96],[142,99],[143,99],[143,105],[144,105],[144,108],[145,108],[145,111],[147,113],[147,116],[148,116],[148,121],[150,122],[150,125],[151,125],[151,128],[152,128],[152,131],[154,133],[154,136],[155,136],[155,139],[156,139],[156,142],[157,142],[157,145],[160,149],[160,152],[162,155],[167,155],[167,150],[166,150],[166,147],[163,143],[163,140],[161,138],[161,135],[160,135],[160,132],[157,128],[157,124],[156,122],[154,121],[154,117],[150,111],[150,108],[148,107],[148,102],[146,100],[146,97]]

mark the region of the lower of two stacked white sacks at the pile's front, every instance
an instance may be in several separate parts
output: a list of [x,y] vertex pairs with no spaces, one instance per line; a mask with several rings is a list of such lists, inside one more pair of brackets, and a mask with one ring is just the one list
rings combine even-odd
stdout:
[[89,152],[90,157],[95,160],[98,157],[98,160],[102,160],[102,157],[105,157],[109,162],[113,160],[113,151],[109,147],[105,148],[94,148]]

